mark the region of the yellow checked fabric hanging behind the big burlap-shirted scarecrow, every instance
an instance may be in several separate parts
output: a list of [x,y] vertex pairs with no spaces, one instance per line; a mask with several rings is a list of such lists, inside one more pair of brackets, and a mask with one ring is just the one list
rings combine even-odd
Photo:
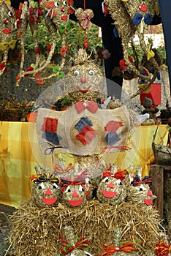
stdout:
[[[157,133],[156,142],[165,135],[166,126],[161,125]],[[135,127],[129,146],[130,151],[120,154],[106,154],[106,162],[115,162],[120,167],[141,165],[143,175],[148,175],[150,164],[153,163],[151,142],[156,126]],[[0,122],[0,203],[18,206],[30,196],[31,181],[29,176],[35,173],[35,165],[50,165],[53,167],[51,156],[41,154],[37,143],[34,123],[1,121]],[[67,162],[75,162],[75,158],[66,155]]]

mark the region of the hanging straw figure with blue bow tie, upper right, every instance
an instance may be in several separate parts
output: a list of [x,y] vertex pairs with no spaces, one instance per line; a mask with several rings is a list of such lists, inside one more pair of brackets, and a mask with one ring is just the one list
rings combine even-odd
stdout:
[[[128,71],[137,76],[142,80],[145,80],[144,90],[147,89],[154,80],[156,80],[157,73],[159,71],[159,65],[155,60],[155,53],[151,50],[151,43],[145,44],[144,32],[148,25],[151,24],[154,15],[154,5],[153,0],[133,0],[133,1],[121,1],[121,0],[105,0],[104,3],[107,5],[107,9],[113,18],[113,23],[115,24],[115,36],[121,37],[123,45],[123,57],[124,65],[123,72]],[[132,45],[134,51],[134,61],[130,58],[128,48],[129,44],[132,44],[132,38],[134,34],[140,39],[140,47],[145,53],[146,59],[151,60],[151,67],[153,67],[153,74],[151,70],[143,67],[138,60],[137,52]],[[118,33],[118,35],[117,35]],[[137,94],[140,92],[138,91]],[[136,94],[136,95],[137,95]],[[135,95],[132,95],[135,97]]]

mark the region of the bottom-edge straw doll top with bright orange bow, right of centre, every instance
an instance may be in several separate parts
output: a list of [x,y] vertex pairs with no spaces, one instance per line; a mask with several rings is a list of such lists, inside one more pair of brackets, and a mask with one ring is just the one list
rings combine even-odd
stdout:
[[115,228],[113,232],[113,243],[104,244],[104,250],[102,251],[100,256],[110,256],[110,255],[131,255],[136,256],[137,249],[135,248],[135,244],[132,242],[121,241],[121,228]]

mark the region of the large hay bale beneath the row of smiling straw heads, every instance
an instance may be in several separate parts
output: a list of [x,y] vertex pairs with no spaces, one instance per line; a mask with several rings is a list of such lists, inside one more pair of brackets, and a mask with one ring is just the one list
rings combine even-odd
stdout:
[[[100,255],[102,244],[113,242],[116,227],[123,230],[122,238],[137,243],[140,255],[153,252],[159,236],[160,219],[153,206],[123,202],[118,206],[87,201],[83,208],[39,209],[29,199],[10,219],[9,242],[13,255],[52,256],[58,251],[58,236],[71,226],[90,242],[90,252]],[[150,253],[148,253],[150,255]]]

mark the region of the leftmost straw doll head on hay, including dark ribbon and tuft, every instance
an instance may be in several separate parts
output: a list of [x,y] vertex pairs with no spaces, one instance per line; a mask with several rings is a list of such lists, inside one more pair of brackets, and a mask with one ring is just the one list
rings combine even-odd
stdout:
[[49,168],[42,169],[36,166],[37,176],[31,176],[34,182],[31,190],[31,199],[39,208],[51,208],[58,206],[61,200],[61,189],[58,186],[59,179],[54,173],[50,173]]

